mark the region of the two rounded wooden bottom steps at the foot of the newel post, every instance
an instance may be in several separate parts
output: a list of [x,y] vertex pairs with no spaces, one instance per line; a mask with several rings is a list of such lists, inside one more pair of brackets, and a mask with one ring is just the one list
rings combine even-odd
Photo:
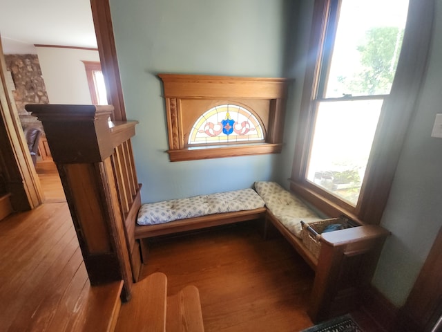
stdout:
[[166,275],[149,275],[133,285],[132,299],[122,304],[115,331],[203,332],[198,288],[186,286],[167,297]]

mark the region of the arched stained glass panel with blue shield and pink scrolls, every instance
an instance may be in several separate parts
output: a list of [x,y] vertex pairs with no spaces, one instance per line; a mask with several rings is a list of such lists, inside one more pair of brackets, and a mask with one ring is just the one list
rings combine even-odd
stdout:
[[224,104],[206,111],[193,124],[191,144],[264,141],[262,125],[250,111],[235,104]]

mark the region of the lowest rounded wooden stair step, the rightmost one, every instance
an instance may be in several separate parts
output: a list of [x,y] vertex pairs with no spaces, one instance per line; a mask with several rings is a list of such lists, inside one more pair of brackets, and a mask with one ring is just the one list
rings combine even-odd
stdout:
[[166,331],[204,332],[198,288],[186,286],[167,298]]

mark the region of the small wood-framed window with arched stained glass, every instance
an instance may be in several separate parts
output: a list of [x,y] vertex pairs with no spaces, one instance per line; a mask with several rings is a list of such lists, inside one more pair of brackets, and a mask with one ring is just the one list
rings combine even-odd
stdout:
[[160,74],[171,161],[276,154],[282,148],[282,78]]

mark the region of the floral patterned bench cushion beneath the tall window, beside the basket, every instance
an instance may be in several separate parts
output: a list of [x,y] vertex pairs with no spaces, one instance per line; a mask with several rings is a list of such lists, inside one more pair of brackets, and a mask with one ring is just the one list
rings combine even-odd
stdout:
[[278,183],[259,181],[255,183],[255,190],[265,201],[267,209],[296,237],[301,237],[301,220],[311,223],[322,219]]

